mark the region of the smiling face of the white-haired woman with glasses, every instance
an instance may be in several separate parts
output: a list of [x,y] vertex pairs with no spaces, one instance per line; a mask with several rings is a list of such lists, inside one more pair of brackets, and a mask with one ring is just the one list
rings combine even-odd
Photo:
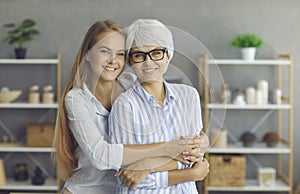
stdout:
[[[130,53],[138,53],[138,52],[150,52],[153,51],[152,54],[152,59],[155,59],[156,55],[159,53],[156,52],[156,50],[161,50],[163,49],[160,46],[143,46],[143,47],[136,47],[134,46],[131,50]],[[140,55],[134,56],[131,55],[131,57],[140,57]],[[153,61],[150,59],[149,55],[146,55],[145,61],[139,62],[139,63],[134,63],[130,59],[130,65],[132,69],[134,70],[135,74],[138,77],[138,80],[141,83],[145,82],[156,82],[156,81],[162,81],[163,80],[163,74],[165,73],[165,69],[167,67],[168,63],[168,55],[167,53],[163,53],[163,58],[161,60],[156,60]]]

